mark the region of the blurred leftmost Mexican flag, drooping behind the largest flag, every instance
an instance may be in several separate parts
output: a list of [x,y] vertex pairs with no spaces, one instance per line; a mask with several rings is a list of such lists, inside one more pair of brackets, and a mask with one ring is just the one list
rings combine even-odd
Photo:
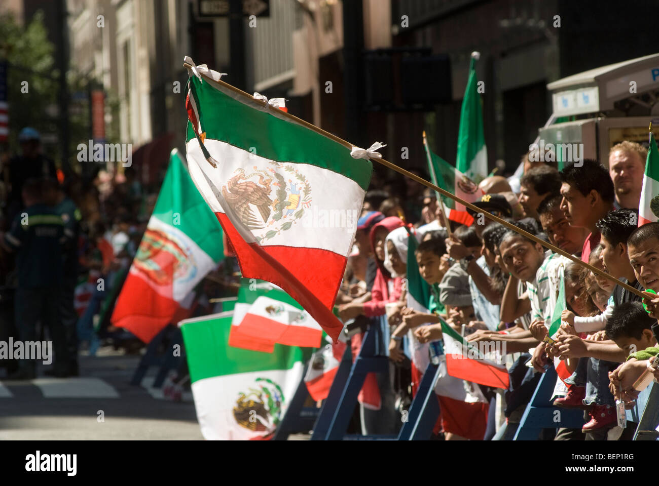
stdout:
[[174,149],[111,322],[149,342],[223,259],[222,229]]

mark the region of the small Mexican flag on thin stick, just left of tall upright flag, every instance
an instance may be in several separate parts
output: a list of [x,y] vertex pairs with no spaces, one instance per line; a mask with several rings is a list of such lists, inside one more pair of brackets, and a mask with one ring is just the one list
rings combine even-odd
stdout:
[[[482,190],[478,188],[473,180],[430,150],[428,140],[426,140],[426,132],[423,132],[423,144],[426,148],[428,172],[430,173],[432,183],[467,202],[473,203],[478,201],[483,194]],[[437,194],[438,204],[442,201],[446,207],[446,217],[448,219],[457,221],[461,225],[472,225],[474,218],[467,212],[465,205],[457,203],[445,196],[441,196],[440,199],[440,194]]]

